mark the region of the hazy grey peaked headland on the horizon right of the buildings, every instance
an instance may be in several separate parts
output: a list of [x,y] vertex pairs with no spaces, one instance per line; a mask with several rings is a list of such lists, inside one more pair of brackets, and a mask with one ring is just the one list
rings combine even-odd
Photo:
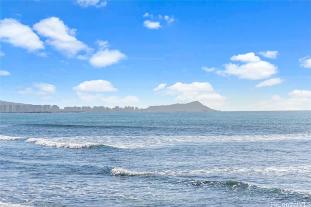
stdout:
[[172,104],[167,106],[150,106],[147,109],[142,109],[145,112],[194,112],[194,111],[217,111],[204,106],[199,101],[193,101],[187,104]]

